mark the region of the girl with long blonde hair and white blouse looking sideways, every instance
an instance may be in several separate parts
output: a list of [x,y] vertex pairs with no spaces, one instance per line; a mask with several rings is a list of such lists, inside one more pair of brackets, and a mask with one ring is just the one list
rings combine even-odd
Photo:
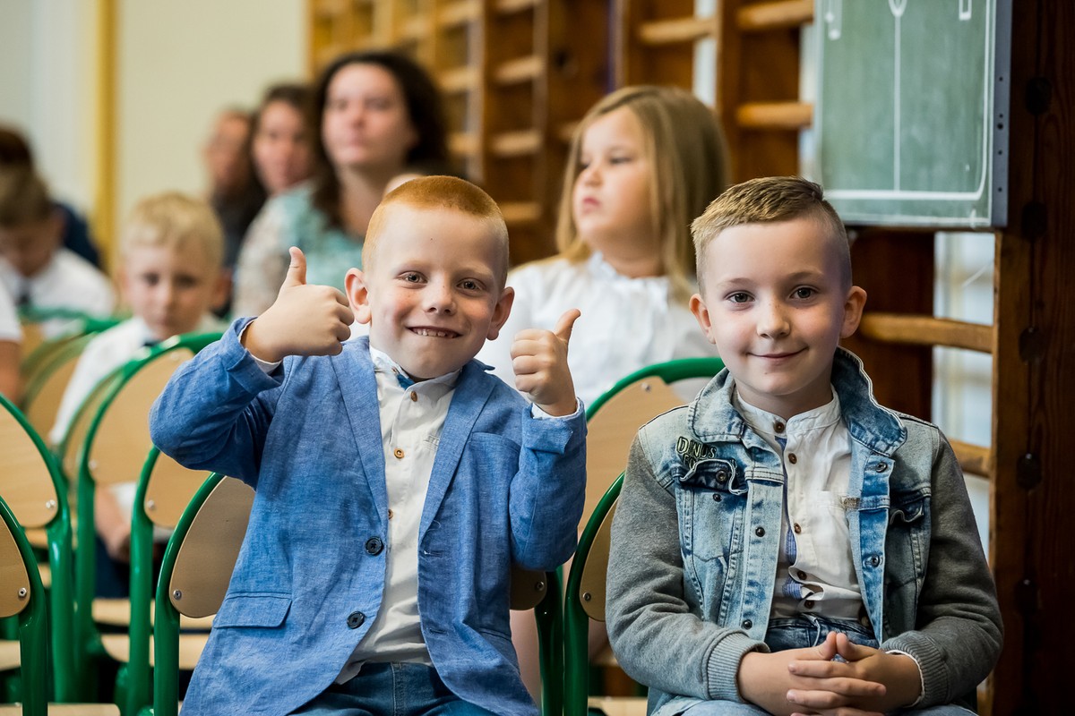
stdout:
[[713,355],[687,308],[696,286],[688,227],[726,177],[720,126],[690,92],[627,87],[598,102],[568,157],[560,253],[512,272],[512,317],[478,360],[510,378],[515,332],[551,327],[569,307],[586,317],[569,359],[585,404],[651,363]]

